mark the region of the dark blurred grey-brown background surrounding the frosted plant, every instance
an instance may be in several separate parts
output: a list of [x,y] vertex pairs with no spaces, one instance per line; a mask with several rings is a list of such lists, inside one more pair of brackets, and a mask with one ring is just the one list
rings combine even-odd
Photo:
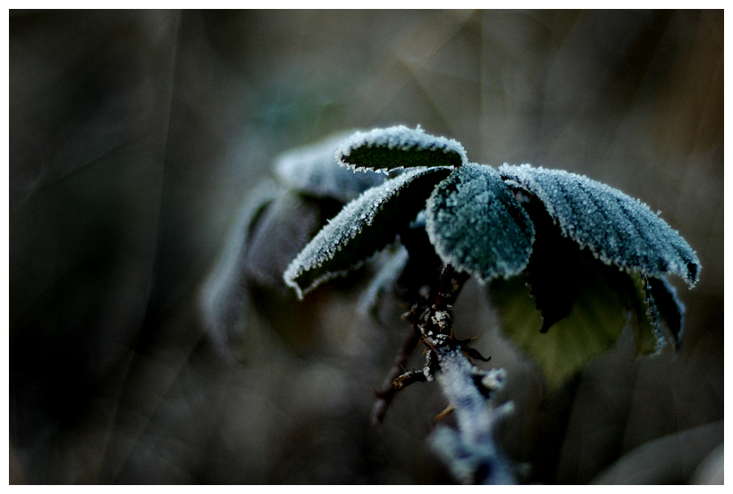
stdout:
[[198,305],[276,155],[398,123],[620,188],[703,264],[678,355],[625,333],[558,390],[469,282],[523,480],[722,479],[722,11],[11,11],[9,54],[11,483],[452,482],[435,383],[369,423],[408,328],[358,276],[254,297],[237,357]]

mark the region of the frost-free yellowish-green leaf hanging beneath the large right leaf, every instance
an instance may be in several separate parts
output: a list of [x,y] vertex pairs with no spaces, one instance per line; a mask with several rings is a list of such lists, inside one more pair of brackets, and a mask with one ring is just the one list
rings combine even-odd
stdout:
[[525,276],[493,280],[489,294],[501,317],[501,329],[557,387],[619,338],[627,321],[624,290],[626,272],[602,264],[587,250],[578,251],[577,298],[569,315],[540,333],[542,314],[535,308]]

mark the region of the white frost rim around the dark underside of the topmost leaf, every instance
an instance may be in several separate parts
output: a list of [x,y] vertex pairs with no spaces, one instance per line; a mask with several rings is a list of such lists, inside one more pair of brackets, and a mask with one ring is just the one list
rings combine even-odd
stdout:
[[413,168],[406,168],[404,166],[375,168],[370,166],[359,166],[345,160],[345,158],[350,156],[352,151],[360,147],[383,146],[386,146],[389,149],[397,148],[401,151],[409,151],[416,148],[427,151],[443,151],[446,155],[453,152],[459,155],[460,165],[468,163],[466,150],[461,146],[459,141],[452,138],[443,138],[427,134],[419,124],[415,129],[409,129],[409,127],[404,125],[395,125],[384,129],[368,130],[366,132],[357,131],[352,134],[350,138],[341,142],[341,145],[336,148],[333,157],[340,166],[354,170],[355,172],[370,171],[389,173],[392,170]]

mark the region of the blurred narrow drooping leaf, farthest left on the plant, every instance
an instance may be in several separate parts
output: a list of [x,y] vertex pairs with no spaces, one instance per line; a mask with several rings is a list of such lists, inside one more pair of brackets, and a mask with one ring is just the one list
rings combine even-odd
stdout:
[[222,347],[238,347],[246,329],[249,306],[245,260],[252,231],[268,205],[282,194],[271,180],[249,193],[240,209],[218,264],[200,293],[200,307],[206,329]]

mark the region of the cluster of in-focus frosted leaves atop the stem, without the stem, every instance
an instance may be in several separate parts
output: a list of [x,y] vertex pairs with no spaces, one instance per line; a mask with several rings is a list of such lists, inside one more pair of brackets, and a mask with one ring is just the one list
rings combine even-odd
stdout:
[[357,132],[335,160],[373,176],[402,172],[364,190],[299,252],[284,273],[299,297],[417,228],[443,264],[489,284],[503,330],[554,385],[611,347],[629,317],[639,354],[660,350],[662,324],[678,343],[684,308],[666,276],[692,287],[700,264],[637,199],[574,173],[468,163],[457,141],[419,127]]

